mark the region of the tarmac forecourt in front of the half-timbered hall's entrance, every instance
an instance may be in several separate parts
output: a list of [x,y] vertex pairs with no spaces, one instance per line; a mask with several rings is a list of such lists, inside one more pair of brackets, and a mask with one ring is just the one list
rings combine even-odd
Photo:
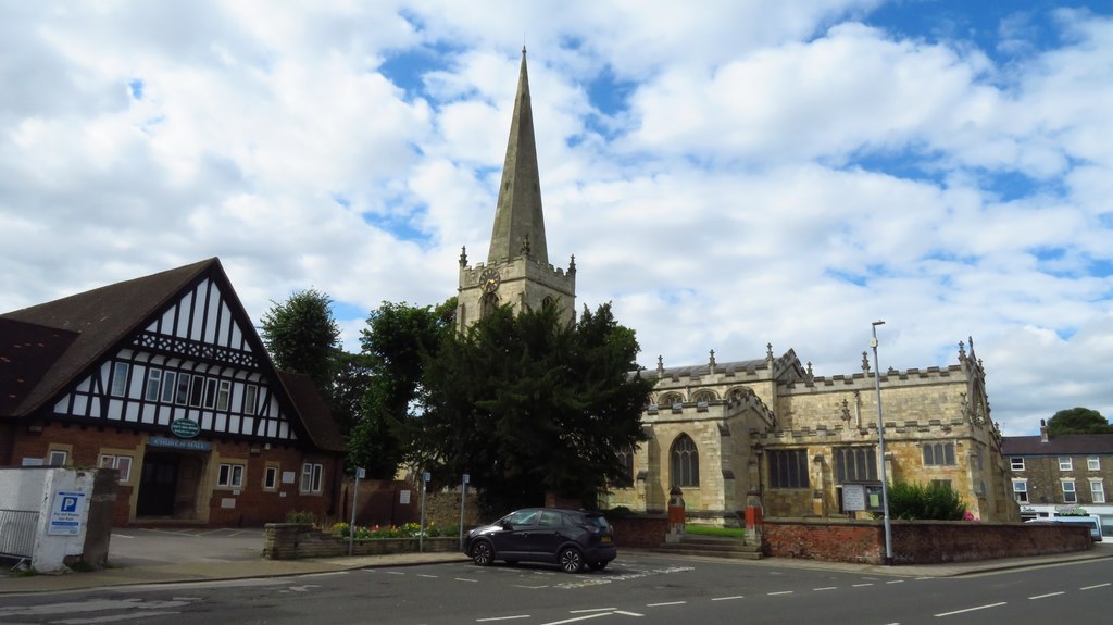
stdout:
[[262,559],[263,528],[114,527],[110,566]]

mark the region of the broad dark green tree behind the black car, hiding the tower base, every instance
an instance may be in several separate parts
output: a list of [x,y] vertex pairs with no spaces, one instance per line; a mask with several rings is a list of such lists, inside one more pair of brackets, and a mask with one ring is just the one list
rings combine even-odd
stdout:
[[414,419],[425,468],[447,483],[470,474],[493,510],[550,492],[593,504],[624,477],[615,450],[644,439],[653,383],[636,373],[638,351],[609,305],[577,324],[553,305],[516,316],[502,307],[447,335],[427,358],[425,411]]

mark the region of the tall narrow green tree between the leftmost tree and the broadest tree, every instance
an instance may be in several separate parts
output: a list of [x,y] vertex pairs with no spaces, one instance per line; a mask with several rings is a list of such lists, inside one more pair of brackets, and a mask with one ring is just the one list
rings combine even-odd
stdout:
[[411,414],[423,403],[423,359],[451,333],[455,301],[436,308],[384,301],[367,318],[359,338],[367,384],[347,437],[351,467],[388,479],[407,459]]

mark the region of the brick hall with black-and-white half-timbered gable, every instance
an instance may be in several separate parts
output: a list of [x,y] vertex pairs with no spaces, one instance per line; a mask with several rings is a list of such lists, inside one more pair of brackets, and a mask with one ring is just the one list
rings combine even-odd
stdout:
[[0,466],[119,469],[116,525],[334,515],[343,452],[217,258],[0,315]]

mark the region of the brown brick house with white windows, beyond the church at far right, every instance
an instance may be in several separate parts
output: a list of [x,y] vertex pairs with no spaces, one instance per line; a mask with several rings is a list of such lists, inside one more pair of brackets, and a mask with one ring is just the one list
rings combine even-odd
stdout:
[[1078,513],[1102,520],[1102,534],[1113,536],[1113,434],[1006,436],[1002,453],[1008,462],[1013,496],[1025,520]]

